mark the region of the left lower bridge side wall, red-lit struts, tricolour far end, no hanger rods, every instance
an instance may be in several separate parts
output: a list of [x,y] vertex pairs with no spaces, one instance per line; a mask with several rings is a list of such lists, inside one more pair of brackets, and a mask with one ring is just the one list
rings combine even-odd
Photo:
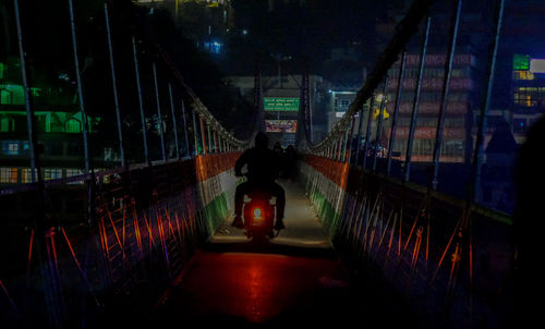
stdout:
[[85,185],[48,184],[40,222],[28,207],[36,190],[0,197],[2,321],[28,328],[107,324],[116,307],[134,312],[157,301],[232,212],[238,156],[102,174],[92,204]]

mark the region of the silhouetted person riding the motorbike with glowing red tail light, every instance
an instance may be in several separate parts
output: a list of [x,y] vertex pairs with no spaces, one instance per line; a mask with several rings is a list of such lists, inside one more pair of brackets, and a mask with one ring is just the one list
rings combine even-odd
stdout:
[[255,136],[255,146],[245,150],[234,163],[234,174],[242,176],[242,168],[247,166],[245,173],[247,181],[237,186],[234,194],[234,220],[232,227],[242,229],[242,206],[244,195],[254,188],[264,188],[269,191],[276,197],[277,216],[275,229],[284,229],[283,210],[286,207],[286,192],[275,180],[280,174],[281,159],[278,155],[268,148],[268,137],[259,132]]

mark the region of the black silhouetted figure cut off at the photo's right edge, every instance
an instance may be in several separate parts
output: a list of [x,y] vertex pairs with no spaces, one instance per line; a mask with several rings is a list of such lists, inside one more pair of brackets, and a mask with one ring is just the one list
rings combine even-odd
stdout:
[[545,297],[542,265],[545,236],[544,147],[545,117],[542,117],[528,133],[517,162],[517,204],[513,212],[517,258],[512,276],[508,328],[543,326],[543,298]]

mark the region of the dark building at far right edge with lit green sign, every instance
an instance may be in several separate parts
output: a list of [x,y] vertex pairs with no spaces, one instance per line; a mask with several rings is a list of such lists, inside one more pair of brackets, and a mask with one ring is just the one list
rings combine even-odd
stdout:
[[545,3],[507,1],[498,50],[494,109],[504,109],[518,145],[545,112],[545,74],[542,59]]

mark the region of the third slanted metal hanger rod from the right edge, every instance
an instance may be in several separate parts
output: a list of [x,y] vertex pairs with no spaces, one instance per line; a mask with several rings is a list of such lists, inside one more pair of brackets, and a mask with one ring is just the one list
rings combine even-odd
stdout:
[[412,144],[414,138],[414,131],[416,130],[416,119],[419,113],[419,102],[420,102],[420,90],[422,85],[422,77],[424,76],[424,68],[426,65],[426,54],[427,54],[427,41],[429,38],[429,26],[432,25],[432,17],[427,17],[426,29],[424,32],[424,40],[422,42],[422,51],[420,53],[419,63],[419,77],[416,81],[416,89],[414,90],[414,99],[412,103],[412,115],[411,125],[409,127],[409,136],[407,138],[407,150],[405,150],[405,168],[404,168],[404,180],[409,182],[411,176],[411,156],[412,156]]

